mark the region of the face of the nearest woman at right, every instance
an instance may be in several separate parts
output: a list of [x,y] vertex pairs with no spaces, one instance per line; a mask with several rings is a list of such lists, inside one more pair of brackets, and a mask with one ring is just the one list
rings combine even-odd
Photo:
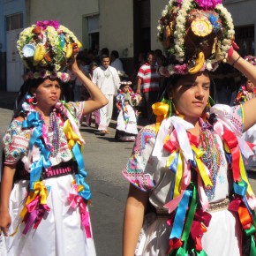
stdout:
[[207,106],[210,79],[207,72],[186,75],[177,80],[170,92],[177,114],[192,123],[197,122]]

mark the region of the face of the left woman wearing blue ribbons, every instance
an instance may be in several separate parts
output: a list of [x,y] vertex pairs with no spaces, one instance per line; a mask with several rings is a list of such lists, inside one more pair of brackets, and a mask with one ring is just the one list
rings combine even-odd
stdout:
[[58,102],[61,94],[61,87],[57,80],[45,79],[34,92],[38,108],[51,108]]

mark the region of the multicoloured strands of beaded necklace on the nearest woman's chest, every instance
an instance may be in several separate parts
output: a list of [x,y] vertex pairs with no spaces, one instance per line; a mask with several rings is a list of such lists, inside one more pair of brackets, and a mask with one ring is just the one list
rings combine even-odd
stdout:
[[221,154],[218,150],[218,142],[215,136],[215,132],[213,131],[213,127],[207,122],[204,123],[200,119],[200,149],[204,151],[204,154],[201,156],[202,161],[209,169],[209,178],[213,184],[212,187],[205,186],[205,192],[207,194],[207,198],[212,200],[215,197],[215,185],[216,178],[218,174],[218,169],[221,165]]

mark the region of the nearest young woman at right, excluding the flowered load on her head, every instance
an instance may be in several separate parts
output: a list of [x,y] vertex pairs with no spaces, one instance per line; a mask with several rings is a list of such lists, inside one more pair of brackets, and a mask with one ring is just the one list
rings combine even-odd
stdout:
[[[228,63],[255,84],[256,68],[236,51]],[[215,105],[207,121],[209,88],[208,72],[177,76],[169,87],[174,116],[139,132],[123,170],[131,183],[124,256],[237,256],[242,240],[245,255],[254,255],[256,200],[240,153],[252,151],[240,137],[256,123],[256,99],[233,108]],[[148,204],[154,213],[145,215]]]

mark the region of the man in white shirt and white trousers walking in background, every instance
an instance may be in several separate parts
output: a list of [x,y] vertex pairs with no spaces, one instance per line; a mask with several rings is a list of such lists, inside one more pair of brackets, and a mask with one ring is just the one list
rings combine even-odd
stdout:
[[100,124],[98,131],[101,135],[108,132],[109,123],[113,112],[113,99],[120,86],[120,79],[117,70],[111,67],[109,56],[102,55],[102,65],[94,70],[93,82],[102,90],[102,93],[109,100],[109,103],[100,109]]

